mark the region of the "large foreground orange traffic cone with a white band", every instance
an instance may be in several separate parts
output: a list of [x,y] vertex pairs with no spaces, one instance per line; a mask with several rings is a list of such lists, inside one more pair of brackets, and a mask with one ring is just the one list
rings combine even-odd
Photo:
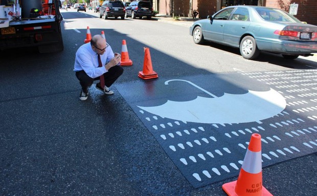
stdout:
[[261,135],[252,134],[238,180],[225,183],[222,189],[230,196],[272,195],[262,185]]

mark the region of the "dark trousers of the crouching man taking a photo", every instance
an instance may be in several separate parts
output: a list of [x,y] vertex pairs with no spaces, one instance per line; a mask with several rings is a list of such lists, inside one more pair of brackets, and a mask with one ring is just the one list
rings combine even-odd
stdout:
[[[120,65],[116,65],[111,67],[108,72],[105,72],[105,74],[100,77],[104,77],[105,86],[110,87],[122,74],[123,68]],[[88,92],[88,87],[91,86],[95,80],[100,80],[100,77],[90,78],[84,70],[76,71],[76,77],[84,92]]]

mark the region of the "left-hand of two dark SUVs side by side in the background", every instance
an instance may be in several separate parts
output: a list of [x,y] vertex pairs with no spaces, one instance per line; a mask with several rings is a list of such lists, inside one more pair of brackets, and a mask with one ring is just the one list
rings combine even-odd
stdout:
[[115,17],[116,19],[120,16],[124,20],[125,7],[122,1],[105,1],[99,8],[99,18],[105,17]]

